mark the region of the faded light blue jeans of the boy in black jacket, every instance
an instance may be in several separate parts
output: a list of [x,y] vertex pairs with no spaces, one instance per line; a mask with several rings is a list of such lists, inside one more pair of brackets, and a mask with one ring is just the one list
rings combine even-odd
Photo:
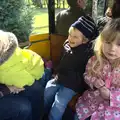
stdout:
[[[49,120],[61,120],[68,102],[76,94],[73,90],[48,81],[44,91],[44,108],[49,112]],[[51,108],[51,109],[50,109]]]

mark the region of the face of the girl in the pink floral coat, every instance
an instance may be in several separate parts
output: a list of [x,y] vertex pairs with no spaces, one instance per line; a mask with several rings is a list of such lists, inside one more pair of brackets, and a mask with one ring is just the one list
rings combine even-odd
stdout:
[[120,38],[115,39],[113,42],[103,42],[102,51],[109,61],[114,61],[120,58]]

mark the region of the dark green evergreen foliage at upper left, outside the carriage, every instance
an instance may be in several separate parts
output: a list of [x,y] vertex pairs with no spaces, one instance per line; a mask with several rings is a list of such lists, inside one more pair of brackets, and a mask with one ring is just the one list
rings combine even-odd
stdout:
[[28,40],[32,12],[24,0],[0,0],[0,29],[13,32],[19,42]]

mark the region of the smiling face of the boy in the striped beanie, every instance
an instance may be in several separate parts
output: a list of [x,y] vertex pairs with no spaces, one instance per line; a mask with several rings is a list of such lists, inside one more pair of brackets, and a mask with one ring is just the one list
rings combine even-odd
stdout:
[[84,36],[83,34],[77,30],[72,29],[69,31],[68,41],[70,44],[70,47],[77,47],[83,43]]

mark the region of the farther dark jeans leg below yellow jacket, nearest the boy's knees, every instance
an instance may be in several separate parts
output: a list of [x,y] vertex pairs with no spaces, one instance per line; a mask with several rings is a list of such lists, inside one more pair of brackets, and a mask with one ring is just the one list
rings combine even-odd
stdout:
[[18,96],[25,97],[30,101],[32,119],[42,120],[44,115],[44,87],[40,84],[40,81],[36,80],[32,86],[25,87],[25,91],[20,92]]

